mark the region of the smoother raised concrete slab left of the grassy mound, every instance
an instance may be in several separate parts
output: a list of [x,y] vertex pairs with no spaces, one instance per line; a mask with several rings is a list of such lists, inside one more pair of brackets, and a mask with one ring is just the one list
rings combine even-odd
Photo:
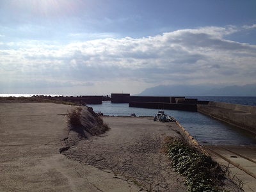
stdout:
[[0,191],[140,191],[110,170],[60,154],[70,106],[0,103]]

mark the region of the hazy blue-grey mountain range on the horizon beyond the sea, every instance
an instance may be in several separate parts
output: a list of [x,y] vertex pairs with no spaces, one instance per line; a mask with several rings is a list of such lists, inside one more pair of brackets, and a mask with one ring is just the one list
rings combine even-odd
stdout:
[[211,88],[202,85],[159,85],[147,88],[138,95],[155,96],[255,96],[256,83],[244,86],[226,86]]

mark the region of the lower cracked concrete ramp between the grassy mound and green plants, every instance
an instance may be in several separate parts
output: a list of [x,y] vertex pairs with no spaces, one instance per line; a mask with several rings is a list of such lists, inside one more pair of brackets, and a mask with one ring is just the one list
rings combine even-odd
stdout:
[[110,131],[81,140],[63,153],[82,164],[129,178],[146,191],[186,191],[184,178],[173,172],[161,152],[166,136],[179,135],[177,124],[154,122],[152,117],[104,117],[104,122]]

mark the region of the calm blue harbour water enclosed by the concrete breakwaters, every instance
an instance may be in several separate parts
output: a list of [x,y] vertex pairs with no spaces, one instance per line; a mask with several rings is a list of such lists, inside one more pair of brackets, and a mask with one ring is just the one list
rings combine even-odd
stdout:
[[[90,104],[93,111],[101,111],[104,115],[131,115],[154,116],[157,109],[129,108],[128,104]],[[202,144],[222,145],[256,145],[255,135],[243,129],[221,122],[198,112],[164,110],[170,116],[174,116],[180,124]]]

